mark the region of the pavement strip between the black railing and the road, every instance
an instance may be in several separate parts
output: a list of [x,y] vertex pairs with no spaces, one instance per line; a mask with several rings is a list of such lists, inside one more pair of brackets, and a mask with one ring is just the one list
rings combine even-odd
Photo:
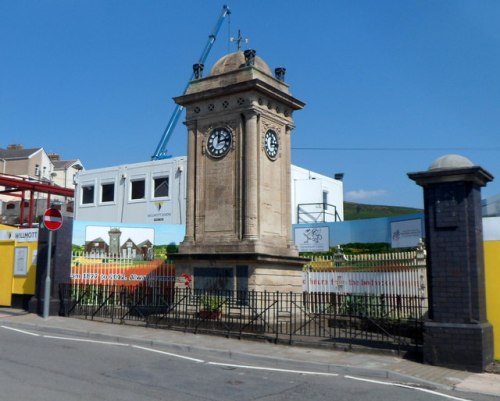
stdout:
[[500,375],[471,373],[425,365],[394,355],[373,352],[345,352],[304,346],[238,340],[214,335],[120,325],[79,318],[40,317],[19,309],[0,308],[0,326],[41,331],[58,335],[161,346],[186,354],[209,352],[211,355],[245,359],[297,361],[314,364],[318,369],[341,371],[369,378],[389,379],[404,384],[457,390],[500,397]]

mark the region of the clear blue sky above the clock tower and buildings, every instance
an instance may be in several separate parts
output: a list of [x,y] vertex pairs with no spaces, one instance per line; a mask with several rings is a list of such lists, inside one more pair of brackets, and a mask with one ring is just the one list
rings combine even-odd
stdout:
[[[0,0],[0,147],[87,169],[149,160],[223,4],[206,69],[238,29],[286,67],[306,103],[292,161],[343,172],[346,200],[422,207],[407,173],[450,153],[500,193],[498,0]],[[182,124],[168,149],[187,153]]]

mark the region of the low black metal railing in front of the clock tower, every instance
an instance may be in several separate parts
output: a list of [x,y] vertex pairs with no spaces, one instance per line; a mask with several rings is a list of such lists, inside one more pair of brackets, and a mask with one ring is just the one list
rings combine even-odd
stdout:
[[260,336],[332,347],[415,350],[422,344],[420,297],[335,293],[199,291],[190,288],[61,285],[66,316],[158,328]]

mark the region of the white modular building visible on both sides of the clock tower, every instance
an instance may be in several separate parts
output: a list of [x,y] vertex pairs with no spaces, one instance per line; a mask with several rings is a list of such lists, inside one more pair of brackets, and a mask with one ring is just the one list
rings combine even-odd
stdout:
[[[185,224],[187,157],[80,171],[75,220]],[[343,183],[292,166],[292,223],[344,219]]]

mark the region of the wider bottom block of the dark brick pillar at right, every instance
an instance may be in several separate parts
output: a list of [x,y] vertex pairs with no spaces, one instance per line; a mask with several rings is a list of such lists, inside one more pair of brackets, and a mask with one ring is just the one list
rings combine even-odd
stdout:
[[493,327],[485,323],[424,324],[424,363],[484,372],[493,362]]

